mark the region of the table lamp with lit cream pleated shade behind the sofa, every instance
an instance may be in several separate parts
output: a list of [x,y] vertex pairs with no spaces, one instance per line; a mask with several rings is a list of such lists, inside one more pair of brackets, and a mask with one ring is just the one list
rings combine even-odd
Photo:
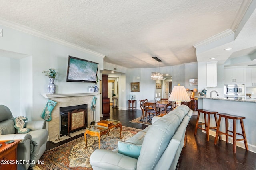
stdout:
[[181,102],[190,102],[190,98],[184,86],[174,86],[169,97],[170,101],[176,102],[176,106],[180,106]]

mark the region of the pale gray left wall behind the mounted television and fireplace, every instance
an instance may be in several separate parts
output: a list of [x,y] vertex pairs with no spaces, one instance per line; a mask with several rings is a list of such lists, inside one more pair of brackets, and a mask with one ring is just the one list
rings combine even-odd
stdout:
[[[0,63],[4,65],[0,69],[8,70],[3,71],[10,87],[0,91],[0,104],[8,106],[14,115],[26,115],[30,120],[41,119],[40,115],[47,101],[41,94],[46,93],[48,84],[48,78],[42,71],[49,68],[55,68],[59,72],[55,80],[56,93],[88,92],[88,87],[93,86],[93,83],[66,82],[68,55],[97,62],[99,70],[103,70],[103,55],[4,25],[0,27],[4,30],[4,36],[0,37],[0,51],[20,53],[23,56],[19,61],[0,58]],[[24,57],[24,54],[28,58]],[[17,72],[20,74],[16,74]],[[19,81],[17,77],[20,77]],[[5,86],[1,83],[0,89],[4,89]],[[96,114],[100,114],[100,111],[98,109]]]

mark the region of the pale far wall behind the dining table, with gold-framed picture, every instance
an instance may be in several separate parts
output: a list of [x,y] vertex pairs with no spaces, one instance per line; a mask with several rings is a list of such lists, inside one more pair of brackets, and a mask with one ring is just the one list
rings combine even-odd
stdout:
[[[190,77],[197,78],[197,63],[186,63],[179,66],[160,67],[161,73],[172,76],[172,87],[174,85],[183,85],[185,88],[197,88],[197,86],[189,86],[188,79]],[[126,109],[128,109],[129,94],[135,94],[137,99],[137,109],[140,109],[140,100],[154,100],[155,93],[163,95],[163,81],[151,80],[151,72],[155,72],[155,68],[136,68],[129,69],[126,74]],[[140,77],[140,79],[136,79]],[[140,82],[140,92],[131,92],[130,83]],[[162,89],[156,89],[156,83],[162,83]]]

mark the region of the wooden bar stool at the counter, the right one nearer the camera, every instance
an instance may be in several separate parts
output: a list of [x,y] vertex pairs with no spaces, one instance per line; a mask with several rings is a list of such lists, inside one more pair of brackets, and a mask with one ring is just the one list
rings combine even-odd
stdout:
[[[218,113],[218,115],[219,115],[219,120],[218,120],[217,132],[216,132],[214,144],[216,145],[216,143],[217,143],[217,139],[218,139],[217,135],[224,134],[224,135],[226,135],[226,143],[228,143],[228,136],[233,137],[233,152],[234,153],[236,153],[236,141],[244,141],[245,149],[248,150],[248,145],[247,145],[247,140],[246,140],[246,135],[245,135],[245,130],[244,130],[244,122],[243,122],[243,119],[245,119],[245,117],[230,115],[230,114],[226,114],[226,113]],[[225,118],[225,128],[226,128],[225,133],[220,131],[220,120],[222,117]],[[233,131],[228,130],[228,119],[233,120]],[[242,134],[236,132],[236,120],[240,120]],[[233,133],[233,135],[228,134],[228,132]],[[236,134],[243,136],[243,138],[236,139]]]

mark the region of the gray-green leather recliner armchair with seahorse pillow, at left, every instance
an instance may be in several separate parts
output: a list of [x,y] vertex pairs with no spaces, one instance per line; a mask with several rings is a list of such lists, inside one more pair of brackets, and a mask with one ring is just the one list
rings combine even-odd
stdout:
[[26,122],[26,128],[31,131],[19,134],[14,128],[14,117],[10,109],[0,105],[0,141],[21,140],[18,144],[17,160],[24,160],[24,164],[18,164],[18,170],[27,170],[34,166],[46,150],[48,131],[45,125],[44,120]]

